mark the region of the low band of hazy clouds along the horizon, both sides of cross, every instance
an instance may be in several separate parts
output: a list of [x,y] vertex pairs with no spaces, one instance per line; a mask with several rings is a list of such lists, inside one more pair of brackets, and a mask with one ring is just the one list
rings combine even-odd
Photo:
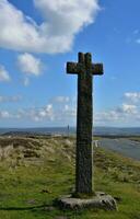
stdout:
[[[125,95],[125,94],[124,94]],[[10,97],[9,97],[10,99]],[[9,100],[7,99],[7,101]],[[14,99],[16,100],[16,99]],[[2,100],[4,102],[4,99]],[[5,113],[7,112],[7,113]],[[0,113],[0,118],[12,118],[33,124],[47,125],[75,125],[77,103],[69,96],[56,96],[42,107],[20,108],[16,111],[5,111]],[[94,125],[100,126],[127,126],[140,122],[140,105],[124,102],[120,105],[103,112],[94,112]]]

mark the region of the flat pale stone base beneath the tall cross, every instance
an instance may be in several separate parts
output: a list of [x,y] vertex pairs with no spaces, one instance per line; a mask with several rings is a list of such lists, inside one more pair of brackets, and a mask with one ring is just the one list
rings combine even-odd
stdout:
[[117,210],[116,200],[105,193],[96,192],[95,196],[89,199],[74,198],[71,195],[60,197],[57,200],[60,208],[63,209],[83,209],[83,208],[100,208],[105,210]]

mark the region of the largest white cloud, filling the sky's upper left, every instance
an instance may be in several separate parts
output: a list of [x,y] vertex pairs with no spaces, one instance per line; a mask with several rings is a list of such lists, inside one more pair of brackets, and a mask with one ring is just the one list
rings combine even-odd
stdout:
[[28,53],[66,53],[75,35],[94,23],[98,0],[34,0],[38,25],[8,0],[0,0],[0,46]]

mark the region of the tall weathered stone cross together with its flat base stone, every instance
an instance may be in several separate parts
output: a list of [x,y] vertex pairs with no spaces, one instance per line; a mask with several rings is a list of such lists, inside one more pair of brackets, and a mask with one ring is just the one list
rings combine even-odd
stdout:
[[[92,64],[90,53],[79,53],[78,62],[67,64],[67,73],[78,74],[75,197],[60,197],[58,204],[70,209],[92,207],[117,210],[116,201],[110,195],[97,192],[93,195],[93,76],[103,74],[103,65]],[[86,198],[82,198],[85,195]]]

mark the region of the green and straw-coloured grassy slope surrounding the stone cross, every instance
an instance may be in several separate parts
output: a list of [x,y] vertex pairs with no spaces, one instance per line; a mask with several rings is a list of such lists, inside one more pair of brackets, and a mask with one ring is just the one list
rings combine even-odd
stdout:
[[[74,140],[14,141],[13,151],[0,163],[0,219],[140,219],[139,162],[95,149],[95,189],[117,197],[119,211],[62,211],[51,206],[56,197],[73,188]],[[37,155],[30,149],[37,150]],[[27,151],[28,158],[23,159]]]

